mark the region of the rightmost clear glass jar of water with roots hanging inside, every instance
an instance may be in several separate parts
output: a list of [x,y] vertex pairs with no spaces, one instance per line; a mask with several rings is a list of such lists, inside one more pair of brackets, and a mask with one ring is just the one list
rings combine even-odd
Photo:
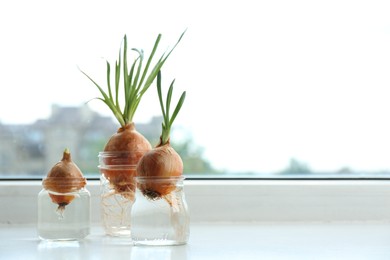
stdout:
[[131,214],[134,245],[182,245],[190,235],[184,177],[136,177]]

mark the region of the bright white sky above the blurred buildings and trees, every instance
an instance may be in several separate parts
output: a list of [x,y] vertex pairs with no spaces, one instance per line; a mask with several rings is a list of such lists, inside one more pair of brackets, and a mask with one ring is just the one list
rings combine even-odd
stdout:
[[[124,34],[149,53],[183,41],[163,69],[187,99],[177,126],[219,169],[390,170],[388,1],[0,2],[0,121],[99,95]],[[135,121],[159,115],[153,88]],[[108,114],[98,101],[90,106]]]

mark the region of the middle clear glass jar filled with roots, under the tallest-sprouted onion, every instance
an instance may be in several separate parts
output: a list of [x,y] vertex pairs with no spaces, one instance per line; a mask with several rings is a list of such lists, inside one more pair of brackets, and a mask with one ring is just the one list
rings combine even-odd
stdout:
[[145,151],[100,152],[101,214],[107,235],[130,237],[136,166]]

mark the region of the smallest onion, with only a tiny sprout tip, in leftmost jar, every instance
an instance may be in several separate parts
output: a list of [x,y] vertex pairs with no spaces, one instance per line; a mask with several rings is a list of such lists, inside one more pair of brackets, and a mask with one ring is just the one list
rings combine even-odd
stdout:
[[51,168],[42,184],[53,203],[58,204],[57,211],[62,215],[65,206],[75,199],[73,193],[84,188],[87,181],[66,148],[61,161]]

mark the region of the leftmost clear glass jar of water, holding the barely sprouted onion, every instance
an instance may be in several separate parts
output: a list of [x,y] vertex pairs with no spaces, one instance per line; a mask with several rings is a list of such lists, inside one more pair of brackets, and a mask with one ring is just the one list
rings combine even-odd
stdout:
[[38,194],[38,235],[43,240],[81,240],[90,233],[90,198],[84,187]]

